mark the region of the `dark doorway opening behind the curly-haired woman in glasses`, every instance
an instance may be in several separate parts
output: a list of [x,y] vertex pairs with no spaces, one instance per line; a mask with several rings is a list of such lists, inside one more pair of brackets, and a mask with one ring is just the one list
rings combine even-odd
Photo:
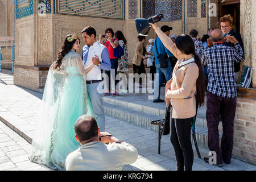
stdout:
[[240,0],[219,0],[218,10],[218,19],[224,15],[230,14],[234,19],[234,30],[240,33]]

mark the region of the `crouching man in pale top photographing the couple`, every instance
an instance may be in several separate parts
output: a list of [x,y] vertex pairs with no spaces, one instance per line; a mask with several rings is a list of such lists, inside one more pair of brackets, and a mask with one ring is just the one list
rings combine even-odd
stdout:
[[96,119],[90,115],[81,115],[74,129],[81,147],[67,156],[67,171],[121,171],[123,165],[133,164],[138,158],[134,146],[100,132]]

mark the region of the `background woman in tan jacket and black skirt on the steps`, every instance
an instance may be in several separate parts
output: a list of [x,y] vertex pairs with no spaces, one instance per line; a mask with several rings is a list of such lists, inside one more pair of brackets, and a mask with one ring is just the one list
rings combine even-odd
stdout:
[[[139,43],[136,46],[135,49],[135,55],[133,56],[133,74],[138,73],[141,75],[141,73],[146,73],[143,60],[147,59],[146,55],[154,56],[154,54],[147,52],[146,48],[144,47],[144,43],[146,40],[145,36],[138,36]],[[138,87],[142,87],[142,78],[139,78],[139,83],[137,84]]]

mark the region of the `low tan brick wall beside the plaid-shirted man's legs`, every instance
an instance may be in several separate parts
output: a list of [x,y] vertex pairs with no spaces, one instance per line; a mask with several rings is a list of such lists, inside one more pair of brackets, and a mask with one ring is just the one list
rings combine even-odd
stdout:
[[256,101],[237,98],[233,155],[256,164]]

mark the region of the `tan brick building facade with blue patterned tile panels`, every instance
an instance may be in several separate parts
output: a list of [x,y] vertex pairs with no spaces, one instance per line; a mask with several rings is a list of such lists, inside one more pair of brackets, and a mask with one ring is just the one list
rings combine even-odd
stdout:
[[[1,2],[6,0],[0,0],[0,5]],[[209,16],[214,4],[216,16]],[[246,53],[242,65],[254,70],[253,88],[238,88],[233,155],[256,164],[256,1],[241,0],[240,11],[240,33]],[[218,27],[219,13],[218,0],[15,0],[15,12],[14,84],[32,90],[44,86],[49,65],[55,61],[65,35],[81,32],[86,26],[96,28],[97,38],[108,27],[121,30],[128,40],[131,64],[137,44],[135,18],[161,13],[164,18],[158,26],[171,26],[171,35],[188,34],[195,28],[202,37],[209,27]],[[154,37],[150,30],[146,40]],[[81,34],[79,38],[82,40]]]

